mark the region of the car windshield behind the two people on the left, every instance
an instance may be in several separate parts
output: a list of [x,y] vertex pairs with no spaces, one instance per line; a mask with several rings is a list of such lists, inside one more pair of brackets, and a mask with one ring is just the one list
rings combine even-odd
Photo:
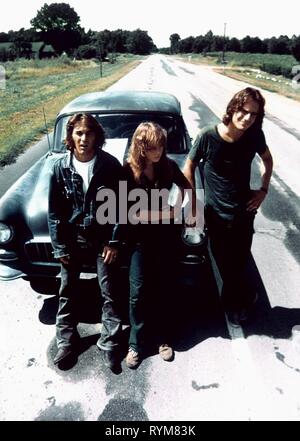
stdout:
[[[179,116],[161,114],[93,114],[103,126],[106,134],[106,144],[125,146],[128,150],[131,137],[136,127],[141,122],[153,121],[164,127],[168,133],[167,152],[186,153],[185,127]],[[59,119],[55,127],[53,151],[61,153],[66,151],[64,139],[66,135],[66,124],[69,116]]]

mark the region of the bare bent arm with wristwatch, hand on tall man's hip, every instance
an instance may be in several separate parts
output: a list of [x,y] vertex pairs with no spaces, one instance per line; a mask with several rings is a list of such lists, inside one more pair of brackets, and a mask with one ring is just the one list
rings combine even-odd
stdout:
[[273,158],[268,148],[266,148],[264,153],[260,154],[260,157],[262,159],[261,187],[259,190],[252,191],[252,197],[247,204],[247,211],[257,210],[264,201],[269,189],[273,170]]

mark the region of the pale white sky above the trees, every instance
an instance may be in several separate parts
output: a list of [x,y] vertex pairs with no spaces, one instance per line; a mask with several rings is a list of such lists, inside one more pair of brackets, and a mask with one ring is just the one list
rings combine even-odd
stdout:
[[[30,20],[47,0],[8,0],[1,5],[0,32],[29,28]],[[59,0],[56,3],[61,3]],[[70,0],[86,31],[140,28],[157,47],[170,45],[170,35],[180,38],[214,35],[239,39],[300,35],[300,1],[285,0]],[[5,5],[5,6],[4,6]],[[225,25],[226,23],[226,25]]]

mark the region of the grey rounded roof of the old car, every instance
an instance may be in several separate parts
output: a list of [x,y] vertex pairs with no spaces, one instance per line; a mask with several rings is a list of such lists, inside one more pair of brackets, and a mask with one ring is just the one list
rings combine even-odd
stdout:
[[76,112],[159,112],[181,115],[180,103],[174,95],[152,91],[105,91],[80,95],[67,104],[58,117]]

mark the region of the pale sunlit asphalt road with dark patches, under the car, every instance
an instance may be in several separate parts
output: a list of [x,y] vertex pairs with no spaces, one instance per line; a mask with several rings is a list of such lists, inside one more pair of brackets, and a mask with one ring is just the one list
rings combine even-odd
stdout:
[[[209,68],[157,55],[112,88],[174,93],[195,137],[201,127],[218,121],[229,98],[243,87]],[[114,375],[94,344],[101,331],[95,281],[82,280],[82,353],[74,368],[59,371],[53,365],[57,299],[52,287],[33,289],[23,279],[1,282],[0,420],[300,419],[300,106],[263,94],[268,112],[264,130],[275,168],[257,215],[249,266],[259,293],[252,324],[243,329],[228,325],[219,280],[207,261],[198,287],[178,286],[174,293],[170,317],[176,319],[175,360],[166,363],[149,354],[136,371],[123,365]],[[258,166],[253,165],[253,185]],[[121,291],[126,304],[125,284]],[[124,323],[125,354],[126,314]]]

